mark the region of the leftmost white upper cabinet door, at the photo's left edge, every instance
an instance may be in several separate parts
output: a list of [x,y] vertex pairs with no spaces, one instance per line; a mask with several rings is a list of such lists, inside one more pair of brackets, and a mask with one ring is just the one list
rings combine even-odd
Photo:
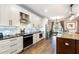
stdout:
[[9,25],[10,15],[10,6],[0,5],[0,25]]

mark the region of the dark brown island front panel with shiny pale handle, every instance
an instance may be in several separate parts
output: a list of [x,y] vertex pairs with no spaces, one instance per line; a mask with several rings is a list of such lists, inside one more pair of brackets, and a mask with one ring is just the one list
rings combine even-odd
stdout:
[[74,54],[75,53],[75,40],[57,39],[57,53]]

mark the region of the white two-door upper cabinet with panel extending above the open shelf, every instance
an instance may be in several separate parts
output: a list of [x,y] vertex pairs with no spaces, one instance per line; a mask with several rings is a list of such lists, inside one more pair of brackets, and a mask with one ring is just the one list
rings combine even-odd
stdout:
[[28,14],[29,12],[18,5],[2,4],[0,5],[0,25],[20,26],[20,12]]

